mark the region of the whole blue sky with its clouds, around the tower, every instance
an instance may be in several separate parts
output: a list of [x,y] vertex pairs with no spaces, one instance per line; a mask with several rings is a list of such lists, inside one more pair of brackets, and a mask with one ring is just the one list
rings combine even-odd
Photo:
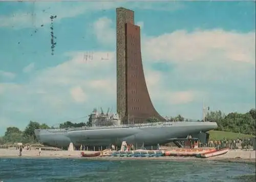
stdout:
[[147,86],[161,115],[201,119],[203,99],[225,113],[255,107],[254,2],[2,2],[0,134],[30,120],[52,126],[83,121],[94,107],[116,110],[121,6],[141,26]]

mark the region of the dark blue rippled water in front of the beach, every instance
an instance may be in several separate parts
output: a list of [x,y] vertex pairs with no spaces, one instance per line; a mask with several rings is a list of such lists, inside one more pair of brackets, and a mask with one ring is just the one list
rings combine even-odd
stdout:
[[255,166],[184,161],[100,161],[86,159],[0,159],[0,181],[241,181]]

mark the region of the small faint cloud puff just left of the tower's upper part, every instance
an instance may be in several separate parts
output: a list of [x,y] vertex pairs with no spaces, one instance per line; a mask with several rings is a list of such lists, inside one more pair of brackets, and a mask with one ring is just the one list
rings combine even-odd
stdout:
[[112,25],[113,21],[107,17],[99,18],[94,22],[93,29],[98,42],[106,45],[113,44],[115,41],[115,30]]

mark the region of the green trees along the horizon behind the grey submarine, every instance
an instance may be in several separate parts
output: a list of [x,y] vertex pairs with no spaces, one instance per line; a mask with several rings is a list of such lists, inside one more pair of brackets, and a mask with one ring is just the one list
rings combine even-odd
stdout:
[[[171,118],[169,120],[187,121],[181,115],[178,115],[177,117]],[[210,111],[206,114],[205,121],[216,122],[218,124],[218,128],[216,130],[255,135],[256,111],[255,109],[250,109],[246,113],[231,112],[228,113],[228,115],[225,115],[225,113],[221,112],[220,110]],[[159,122],[159,120],[156,118],[149,118],[147,119],[147,122]],[[90,117],[88,122],[80,123],[72,123],[71,121],[66,121],[59,124],[58,128],[72,128],[82,126],[92,126],[92,118]],[[17,142],[36,143],[38,141],[36,139],[34,130],[50,128],[54,127],[50,127],[46,123],[40,124],[36,121],[30,121],[24,131],[17,127],[8,127],[6,129],[5,135],[0,137],[0,144]]]

